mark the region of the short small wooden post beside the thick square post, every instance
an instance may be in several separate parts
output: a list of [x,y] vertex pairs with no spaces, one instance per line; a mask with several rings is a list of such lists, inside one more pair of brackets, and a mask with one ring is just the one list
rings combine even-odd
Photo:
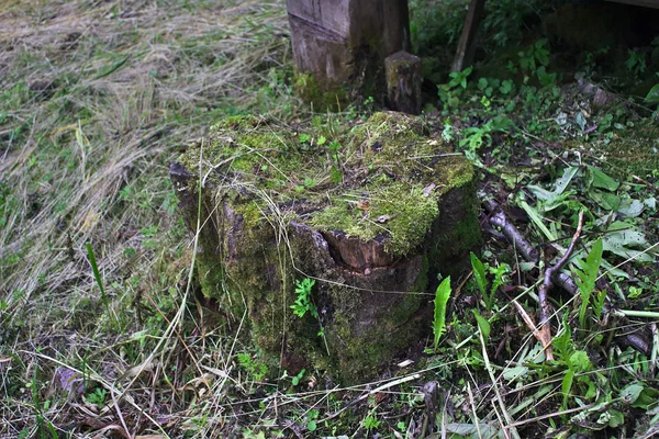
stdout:
[[406,52],[396,52],[384,59],[387,97],[391,110],[421,114],[421,58]]

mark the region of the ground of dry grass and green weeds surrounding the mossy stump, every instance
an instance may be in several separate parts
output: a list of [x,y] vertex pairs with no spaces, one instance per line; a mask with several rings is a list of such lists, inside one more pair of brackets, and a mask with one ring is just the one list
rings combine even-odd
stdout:
[[[222,117],[319,115],[293,92],[284,2],[0,0],[0,437],[658,434],[659,99],[644,98],[659,40],[566,49],[537,31],[560,27],[559,7],[529,20],[511,0],[483,23],[498,57],[448,76],[463,3],[411,2],[436,82],[423,117],[502,211],[483,206],[439,345],[340,387],[266,370],[213,324],[168,176]],[[365,99],[332,117],[372,111]],[[550,360],[530,320],[580,213],[576,290],[550,292]]]

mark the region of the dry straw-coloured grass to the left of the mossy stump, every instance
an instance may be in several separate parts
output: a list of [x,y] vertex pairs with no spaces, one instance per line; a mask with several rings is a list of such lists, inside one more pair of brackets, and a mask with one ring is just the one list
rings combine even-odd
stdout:
[[[282,106],[288,89],[271,68],[289,65],[283,2],[2,1],[0,11],[0,436],[180,431],[193,416],[176,415],[190,408],[181,373],[197,361],[201,380],[201,364],[226,361],[181,333],[200,314],[185,313],[191,250],[167,165],[217,117]],[[121,381],[136,364],[145,371]],[[120,404],[85,404],[62,371]]]

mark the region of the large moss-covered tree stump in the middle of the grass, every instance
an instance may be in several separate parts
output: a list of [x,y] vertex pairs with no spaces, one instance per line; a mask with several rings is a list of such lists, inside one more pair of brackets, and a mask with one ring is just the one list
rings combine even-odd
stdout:
[[[479,244],[473,168],[400,113],[315,122],[230,117],[170,175],[192,229],[201,210],[203,293],[289,373],[355,382],[427,334],[428,288]],[[317,317],[291,309],[306,278]]]

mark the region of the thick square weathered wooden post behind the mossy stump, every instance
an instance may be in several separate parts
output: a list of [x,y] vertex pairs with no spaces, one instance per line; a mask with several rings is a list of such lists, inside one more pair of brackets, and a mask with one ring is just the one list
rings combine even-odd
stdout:
[[407,0],[288,0],[293,56],[322,91],[382,100],[384,58],[409,49]]

